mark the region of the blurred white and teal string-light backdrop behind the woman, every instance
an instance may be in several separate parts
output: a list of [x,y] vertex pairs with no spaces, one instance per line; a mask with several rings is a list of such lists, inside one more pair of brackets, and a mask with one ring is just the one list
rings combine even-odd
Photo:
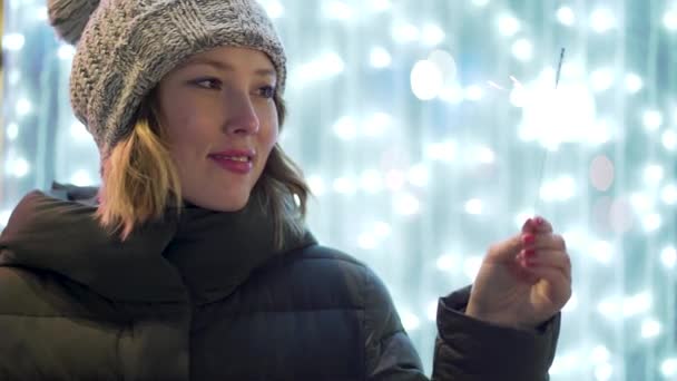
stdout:
[[[429,373],[436,299],[537,213],[575,268],[552,380],[677,380],[677,1],[261,2],[310,225],[383,277]],[[52,179],[99,182],[73,49],[45,1],[4,18],[0,224]]]

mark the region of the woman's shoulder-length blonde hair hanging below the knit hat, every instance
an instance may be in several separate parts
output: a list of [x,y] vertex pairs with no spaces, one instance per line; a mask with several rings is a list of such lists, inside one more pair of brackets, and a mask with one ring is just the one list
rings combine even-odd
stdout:
[[[277,94],[274,100],[282,127],[286,116],[284,100]],[[119,233],[121,240],[138,225],[161,218],[168,209],[180,213],[180,180],[157,117],[154,92],[139,107],[129,136],[102,158],[101,177],[96,217],[111,234]],[[310,195],[301,169],[276,144],[251,196],[273,218],[277,248],[283,247],[288,234],[304,234]]]

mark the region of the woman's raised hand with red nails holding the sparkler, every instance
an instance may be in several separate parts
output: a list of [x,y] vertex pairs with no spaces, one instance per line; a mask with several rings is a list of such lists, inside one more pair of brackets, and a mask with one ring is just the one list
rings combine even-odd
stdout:
[[534,329],[571,296],[571,261],[565,241],[541,217],[522,234],[489,250],[465,314],[498,325]]

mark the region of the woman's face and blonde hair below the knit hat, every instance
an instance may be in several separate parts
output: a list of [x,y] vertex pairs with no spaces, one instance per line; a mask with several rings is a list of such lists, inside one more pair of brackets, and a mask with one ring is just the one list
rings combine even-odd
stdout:
[[284,225],[302,234],[310,193],[277,145],[284,116],[264,52],[220,47],[195,55],[148,94],[136,127],[104,159],[98,216],[126,238],[136,224],[161,217],[168,202],[177,212],[181,201],[234,212],[253,194],[269,211],[282,246]]

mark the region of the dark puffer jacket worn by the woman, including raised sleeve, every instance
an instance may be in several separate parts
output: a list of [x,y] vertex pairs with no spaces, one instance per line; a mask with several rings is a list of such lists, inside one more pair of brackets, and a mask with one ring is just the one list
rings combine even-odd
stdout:
[[[278,252],[252,205],[188,207],[120,243],[78,192],[0,237],[0,380],[428,380],[380,280],[310,234]],[[467,297],[440,300],[433,379],[546,380],[559,318],[491,326]]]

